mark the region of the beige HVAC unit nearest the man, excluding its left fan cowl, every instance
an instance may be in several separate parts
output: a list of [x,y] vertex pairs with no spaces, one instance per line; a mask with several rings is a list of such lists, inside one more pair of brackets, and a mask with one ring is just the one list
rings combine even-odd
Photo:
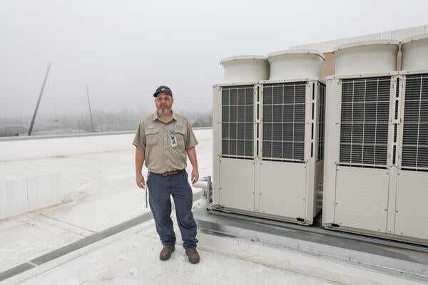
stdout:
[[214,86],[212,208],[312,224],[322,199],[324,58],[282,51],[267,59],[269,80]]

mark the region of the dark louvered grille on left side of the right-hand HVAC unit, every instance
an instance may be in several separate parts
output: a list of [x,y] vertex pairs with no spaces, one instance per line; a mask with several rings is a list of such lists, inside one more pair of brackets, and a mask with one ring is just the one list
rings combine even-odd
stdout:
[[340,164],[386,167],[390,77],[344,79]]

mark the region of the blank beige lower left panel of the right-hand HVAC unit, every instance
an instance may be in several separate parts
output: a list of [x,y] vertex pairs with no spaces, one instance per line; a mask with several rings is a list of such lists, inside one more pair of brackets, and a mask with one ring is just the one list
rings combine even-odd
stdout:
[[388,170],[337,167],[335,223],[386,232]]

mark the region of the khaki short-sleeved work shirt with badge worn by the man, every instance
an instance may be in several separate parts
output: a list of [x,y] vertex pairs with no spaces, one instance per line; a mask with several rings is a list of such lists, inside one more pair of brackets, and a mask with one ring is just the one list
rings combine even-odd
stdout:
[[[177,146],[173,147],[171,137]],[[143,150],[146,167],[150,172],[164,173],[183,170],[187,166],[187,152],[198,145],[189,122],[182,115],[173,113],[168,123],[163,123],[154,113],[141,120],[133,145]]]

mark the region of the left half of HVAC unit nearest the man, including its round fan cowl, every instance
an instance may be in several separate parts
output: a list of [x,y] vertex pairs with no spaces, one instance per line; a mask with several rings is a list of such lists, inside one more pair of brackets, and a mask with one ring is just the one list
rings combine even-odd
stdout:
[[258,81],[269,78],[264,56],[221,61],[225,83],[213,86],[213,204],[254,211]]

